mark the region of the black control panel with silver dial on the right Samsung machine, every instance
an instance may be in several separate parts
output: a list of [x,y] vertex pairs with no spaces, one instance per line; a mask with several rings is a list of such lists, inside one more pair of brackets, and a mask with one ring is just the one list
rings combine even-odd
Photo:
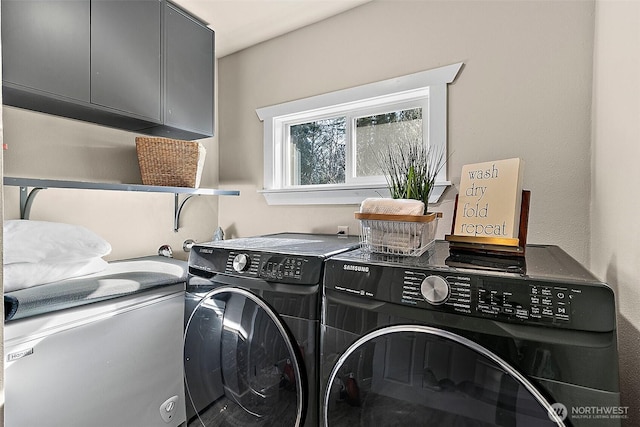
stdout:
[[[389,303],[510,323],[607,331],[613,292],[602,283],[418,269],[330,259],[325,288]],[[609,302],[611,304],[603,304]],[[594,307],[601,307],[594,313]]]

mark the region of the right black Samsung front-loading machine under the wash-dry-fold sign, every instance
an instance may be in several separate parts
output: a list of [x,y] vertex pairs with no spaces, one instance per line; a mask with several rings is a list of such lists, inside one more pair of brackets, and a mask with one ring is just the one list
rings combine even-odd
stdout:
[[616,426],[614,294],[557,246],[327,261],[324,426]]

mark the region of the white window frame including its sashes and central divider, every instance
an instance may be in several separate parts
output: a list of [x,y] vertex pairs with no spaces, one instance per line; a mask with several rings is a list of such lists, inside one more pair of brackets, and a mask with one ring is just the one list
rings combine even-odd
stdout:
[[[264,182],[259,190],[269,205],[359,204],[367,197],[389,197],[386,180],[383,183],[361,179],[344,184],[298,185],[287,184],[288,168],[285,157],[289,151],[287,126],[292,123],[319,120],[321,117],[347,115],[347,128],[352,126],[348,115],[359,111],[375,111],[385,106],[411,103],[426,97],[423,106],[425,143],[447,154],[447,84],[453,82],[463,63],[451,64],[406,76],[383,80],[349,89],[330,92],[283,104],[258,108],[256,114],[264,122]],[[407,104],[408,105],[408,104]],[[340,113],[344,112],[344,113]],[[375,114],[375,113],[374,113]],[[350,130],[347,130],[349,133]],[[347,135],[348,136],[348,135]],[[352,141],[347,139],[347,144]],[[347,162],[352,161],[347,150]],[[446,177],[446,162],[438,173],[429,203],[437,203],[444,190],[451,185]],[[349,166],[347,171],[349,173]],[[369,182],[367,182],[369,181]]]

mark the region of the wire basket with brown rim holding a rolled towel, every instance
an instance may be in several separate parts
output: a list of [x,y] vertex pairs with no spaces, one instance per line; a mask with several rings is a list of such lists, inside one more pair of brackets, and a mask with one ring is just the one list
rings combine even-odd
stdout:
[[360,243],[367,252],[420,256],[435,242],[438,218],[427,215],[387,215],[356,212],[360,220]]

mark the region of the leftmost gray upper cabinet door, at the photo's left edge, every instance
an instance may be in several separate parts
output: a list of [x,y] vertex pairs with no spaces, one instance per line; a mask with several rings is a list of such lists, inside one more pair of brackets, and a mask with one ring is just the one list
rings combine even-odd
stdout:
[[89,0],[3,0],[3,81],[89,101]]

